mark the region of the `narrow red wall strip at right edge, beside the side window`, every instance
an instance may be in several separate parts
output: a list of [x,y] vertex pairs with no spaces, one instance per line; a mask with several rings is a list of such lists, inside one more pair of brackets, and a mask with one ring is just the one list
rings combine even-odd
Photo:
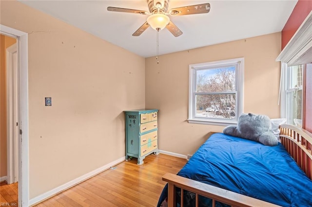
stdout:
[[306,66],[305,114],[303,128],[312,133],[312,63]]

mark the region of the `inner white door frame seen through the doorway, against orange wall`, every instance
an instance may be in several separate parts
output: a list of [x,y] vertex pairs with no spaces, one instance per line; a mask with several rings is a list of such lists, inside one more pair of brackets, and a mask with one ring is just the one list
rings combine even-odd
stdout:
[[19,91],[17,43],[6,49],[7,99],[7,183],[18,182],[19,175]]

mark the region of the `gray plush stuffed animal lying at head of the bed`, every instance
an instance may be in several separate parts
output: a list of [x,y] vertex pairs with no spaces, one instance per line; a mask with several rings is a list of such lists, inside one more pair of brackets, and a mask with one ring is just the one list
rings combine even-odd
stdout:
[[223,129],[223,133],[234,137],[258,141],[268,146],[276,146],[278,140],[270,129],[271,122],[268,116],[248,113],[242,114],[238,118],[237,127],[227,126]]

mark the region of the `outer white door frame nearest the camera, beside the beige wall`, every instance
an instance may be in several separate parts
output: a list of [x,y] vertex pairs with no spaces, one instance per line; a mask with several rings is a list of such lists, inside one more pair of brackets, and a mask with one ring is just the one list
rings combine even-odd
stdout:
[[17,37],[20,106],[19,206],[29,203],[29,131],[28,131],[28,34],[0,24],[0,33]]

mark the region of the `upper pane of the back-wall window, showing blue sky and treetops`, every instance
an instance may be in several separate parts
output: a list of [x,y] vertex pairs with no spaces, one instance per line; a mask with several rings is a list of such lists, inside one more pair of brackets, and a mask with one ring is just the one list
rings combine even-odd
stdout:
[[196,70],[196,92],[235,91],[235,66]]

